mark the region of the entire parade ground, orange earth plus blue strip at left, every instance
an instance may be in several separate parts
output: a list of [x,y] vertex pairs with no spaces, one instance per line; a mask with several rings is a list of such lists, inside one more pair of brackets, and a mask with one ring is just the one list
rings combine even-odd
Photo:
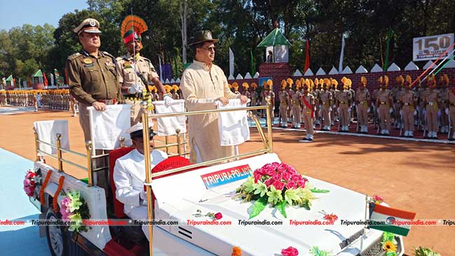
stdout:
[[[78,118],[72,118],[69,112],[40,109],[34,113],[30,108],[0,107],[0,177],[4,183],[0,186],[1,219],[33,218],[38,214],[22,191],[23,176],[35,159],[33,122],[59,119],[69,120],[71,150],[85,153]],[[253,128],[251,132],[251,141],[241,145],[240,152],[262,144],[258,132]],[[334,134],[315,134],[313,143],[299,143],[303,131],[273,132],[274,152],[306,176],[362,194],[379,195],[391,207],[416,212],[421,220],[455,219],[453,144]],[[85,163],[84,159],[73,160]],[[52,160],[48,162],[55,165]],[[66,166],[65,171],[71,175],[85,178],[83,171]],[[413,226],[404,241],[407,255],[419,246],[433,248],[444,256],[455,255],[455,226]],[[48,251],[45,238],[38,236],[38,227],[0,229],[0,242],[2,250],[6,248],[2,255],[46,255]],[[20,244],[31,247],[20,252]]]

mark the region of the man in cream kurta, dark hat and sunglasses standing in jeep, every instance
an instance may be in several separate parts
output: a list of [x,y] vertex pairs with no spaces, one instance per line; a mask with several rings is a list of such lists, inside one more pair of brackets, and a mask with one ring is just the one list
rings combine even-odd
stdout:
[[[229,99],[240,99],[245,104],[248,98],[231,92],[223,70],[213,64],[215,45],[218,39],[210,31],[200,31],[190,45],[195,48],[195,60],[183,72],[181,91],[188,111],[214,110],[214,101],[223,105]],[[199,163],[234,155],[234,146],[221,146],[218,130],[218,113],[188,116],[190,136],[190,162]]]

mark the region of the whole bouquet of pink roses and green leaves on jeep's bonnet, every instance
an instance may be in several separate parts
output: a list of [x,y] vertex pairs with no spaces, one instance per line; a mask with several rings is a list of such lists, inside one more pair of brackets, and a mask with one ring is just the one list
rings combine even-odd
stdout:
[[253,171],[253,176],[235,190],[235,199],[253,201],[250,219],[259,215],[267,204],[276,207],[287,218],[286,206],[300,206],[310,209],[311,201],[316,199],[314,193],[328,193],[328,190],[317,190],[309,185],[307,178],[290,165],[274,162],[265,164]]

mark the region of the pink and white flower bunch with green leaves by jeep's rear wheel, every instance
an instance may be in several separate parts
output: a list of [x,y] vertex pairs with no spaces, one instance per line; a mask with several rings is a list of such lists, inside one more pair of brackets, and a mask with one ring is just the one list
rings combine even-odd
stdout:
[[60,204],[62,220],[72,221],[68,230],[71,232],[87,232],[87,226],[82,221],[90,219],[90,210],[85,199],[76,190],[69,193],[62,192],[62,194],[65,196]]

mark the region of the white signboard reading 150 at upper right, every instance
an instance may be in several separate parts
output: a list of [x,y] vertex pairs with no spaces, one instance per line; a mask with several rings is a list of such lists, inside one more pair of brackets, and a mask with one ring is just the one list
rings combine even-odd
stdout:
[[454,34],[423,36],[412,39],[412,61],[437,59],[454,55]]

